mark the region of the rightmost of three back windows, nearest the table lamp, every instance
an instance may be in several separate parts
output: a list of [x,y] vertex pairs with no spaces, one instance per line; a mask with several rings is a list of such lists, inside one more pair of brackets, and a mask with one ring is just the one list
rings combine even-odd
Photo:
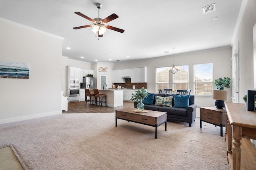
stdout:
[[194,64],[194,94],[212,95],[213,63]]

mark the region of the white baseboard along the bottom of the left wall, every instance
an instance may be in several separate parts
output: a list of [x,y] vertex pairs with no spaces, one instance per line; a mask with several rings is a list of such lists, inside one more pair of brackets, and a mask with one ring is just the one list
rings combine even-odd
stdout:
[[40,114],[36,114],[36,115],[27,115],[27,116],[20,116],[20,117],[11,117],[11,118],[8,118],[8,119],[0,119],[0,124],[22,121],[22,120],[28,120],[28,119],[34,119],[34,118],[39,118],[39,117],[58,115],[58,114],[62,114],[62,111],[54,111],[54,112],[40,113]]

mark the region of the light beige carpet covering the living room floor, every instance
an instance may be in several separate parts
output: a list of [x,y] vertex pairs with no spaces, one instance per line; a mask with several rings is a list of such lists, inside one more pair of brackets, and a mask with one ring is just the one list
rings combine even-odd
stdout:
[[12,146],[26,170],[228,170],[220,127],[199,124],[168,122],[155,139],[154,127],[115,127],[115,113],[61,114],[0,125],[0,148]]

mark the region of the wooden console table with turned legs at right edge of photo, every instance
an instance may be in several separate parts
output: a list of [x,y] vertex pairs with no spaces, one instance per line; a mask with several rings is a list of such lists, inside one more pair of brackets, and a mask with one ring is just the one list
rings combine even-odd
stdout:
[[256,149],[250,139],[256,139],[256,112],[246,110],[245,104],[225,102],[225,106],[225,139],[230,169],[255,170]]

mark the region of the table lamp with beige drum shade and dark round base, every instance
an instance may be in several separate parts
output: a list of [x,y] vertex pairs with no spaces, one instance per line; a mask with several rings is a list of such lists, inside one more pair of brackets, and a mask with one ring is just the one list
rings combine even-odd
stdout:
[[224,100],[228,100],[227,90],[212,90],[212,99],[216,99],[215,106],[218,109],[225,107]]

